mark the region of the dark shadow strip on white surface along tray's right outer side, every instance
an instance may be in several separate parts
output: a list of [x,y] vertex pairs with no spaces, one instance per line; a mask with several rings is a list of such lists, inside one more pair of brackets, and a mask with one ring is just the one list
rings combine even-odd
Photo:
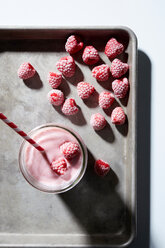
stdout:
[[129,248],[150,242],[151,61],[138,51],[137,87],[137,237]]

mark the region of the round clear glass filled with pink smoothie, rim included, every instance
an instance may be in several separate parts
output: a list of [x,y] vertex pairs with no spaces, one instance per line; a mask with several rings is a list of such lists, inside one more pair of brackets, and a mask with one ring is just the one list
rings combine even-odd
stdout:
[[[81,137],[73,130],[56,124],[39,126],[29,136],[44,148],[45,155],[28,142],[22,143],[19,165],[25,179],[35,188],[48,193],[62,193],[73,188],[83,177],[87,166],[87,149]],[[78,147],[78,153],[71,159],[61,150],[67,142]],[[66,166],[61,174],[52,167],[52,162],[58,164],[59,160]]]

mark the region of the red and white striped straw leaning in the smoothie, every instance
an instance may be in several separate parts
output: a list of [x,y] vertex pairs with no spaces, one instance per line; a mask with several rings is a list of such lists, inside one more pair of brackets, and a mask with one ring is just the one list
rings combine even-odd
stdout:
[[0,113],[0,119],[6,123],[9,127],[11,127],[16,133],[18,133],[21,137],[23,137],[25,140],[27,140],[31,145],[33,145],[38,151],[44,153],[44,149],[37,144],[33,139],[31,139],[26,133],[24,133],[22,130],[20,130],[13,122],[9,121],[7,117]]

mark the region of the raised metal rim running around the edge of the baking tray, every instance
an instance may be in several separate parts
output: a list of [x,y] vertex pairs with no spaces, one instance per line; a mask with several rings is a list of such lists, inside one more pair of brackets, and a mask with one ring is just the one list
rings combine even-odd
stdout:
[[[138,40],[137,40],[137,36],[134,33],[134,31],[127,27],[127,26],[123,26],[123,25],[99,25],[99,26],[55,26],[55,25],[48,25],[48,26],[40,26],[40,25],[27,25],[27,26],[23,26],[23,25],[0,25],[0,40],[9,40],[11,38],[5,38],[3,39],[1,37],[1,32],[15,32],[15,31],[58,31],[58,30],[123,30],[126,31],[129,34],[129,37],[132,40],[132,67],[134,68],[134,70],[132,70],[132,82],[133,82],[133,88],[134,88],[134,98],[133,98],[133,104],[132,104],[132,111],[134,111],[134,115],[132,116],[133,118],[133,132],[132,132],[132,139],[133,139],[133,152],[132,152],[132,156],[133,156],[133,171],[132,171],[132,175],[133,175],[133,181],[134,183],[134,188],[132,188],[132,190],[134,190],[134,194],[132,197],[132,202],[131,202],[131,207],[134,206],[134,211],[133,211],[133,222],[131,223],[131,227],[132,227],[132,233],[129,237],[129,239],[120,245],[104,245],[105,247],[126,247],[128,246],[136,237],[137,235],[137,70],[138,70],[138,57],[137,57],[137,47],[138,47]],[[25,38],[26,39],[26,38]],[[44,39],[44,38],[43,38]],[[17,40],[17,39],[16,39]],[[132,209],[131,209],[132,211]],[[0,233],[1,235],[4,235],[7,233]],[[11,233],[11,235],[24,235],[24,234],[18,234],[18,233]],[[36,234],[27,234],[27,236],[33,236]],[[49,234],[48,234],[49,235]],[[43,234],[44,236],[44,234]],[[47,234],[45,234],[45,236],[47,236]],[[28,245],[24,245],[24,244],[0,244],[0,247],[45,247],[45,245],[34,245],[34,244],[28,244]],[[65,245],[66,247],[71,247],[70,245]],[[73,247],[94,247],[93,245],[72,245]],[[103,245],[95,245],[96,247],[103,247]],[[63,247],[63,245],[46,245],[46,247]]]

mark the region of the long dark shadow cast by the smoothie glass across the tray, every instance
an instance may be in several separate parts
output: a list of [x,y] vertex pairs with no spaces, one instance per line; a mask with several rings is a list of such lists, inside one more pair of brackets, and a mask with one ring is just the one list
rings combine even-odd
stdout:
[[[127,239],[131,231],[131,214],[116,192],[118,177],[112,169],[104,178],[97,176],[93,172],[95,159],[90,151],[88,156],[88,167],[83,180],[78,187],[61,194],[60,197],[79,220],[84,232],[89,235],[90,244],[95,245],[97,241],[102,242],[101,240],[104,242],[104,237],[98,239],[99,235],[116,234],[122,230],[123,238]],[[120,239],[118,241],[121,242]],[[106,242],[105,240],[104,243]]]

